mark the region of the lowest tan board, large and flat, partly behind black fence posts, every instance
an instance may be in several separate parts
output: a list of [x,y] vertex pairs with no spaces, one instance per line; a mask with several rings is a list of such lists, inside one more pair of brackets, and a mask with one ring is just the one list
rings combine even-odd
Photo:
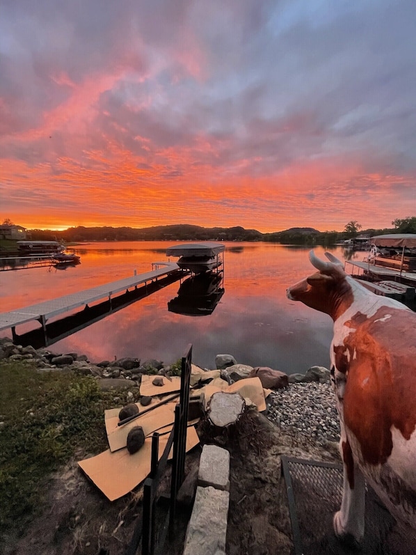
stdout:
[[[168,437],[164,435],[159,438],[159,457],[163,455]],[[199,438],[195,428],[188,428],[186,451],[190,451],[198,443]],[[134,455],[130,455],[127,448],[115,453],[107,449],[95,457],[79,461],[78,464],[99,490],[110,501],[115,501],[143,482],[150,472],[151,456],[152,439],[149,437],[140,451]]]

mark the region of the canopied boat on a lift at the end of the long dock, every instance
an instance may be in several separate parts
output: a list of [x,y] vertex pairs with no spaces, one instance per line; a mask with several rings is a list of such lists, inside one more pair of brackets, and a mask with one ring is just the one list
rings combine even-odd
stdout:
[[188,269],[194,274],[210,272],[223,265],[225,245],[216,242],[185,243],[166,250],[166,256],[179,256],[179,268]]

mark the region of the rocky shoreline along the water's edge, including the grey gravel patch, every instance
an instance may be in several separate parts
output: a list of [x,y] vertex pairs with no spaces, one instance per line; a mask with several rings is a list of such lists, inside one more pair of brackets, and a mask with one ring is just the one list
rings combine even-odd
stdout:
[[[102,389],[130,389],[140,384],[143,374],[170,376],[177,375],[179,370],[178,364],[167,365],[157,359],[142,363],[140,359],[125,357],[92,363],[83,354],[61,354],[45,347],[35,350],[31,346],[15,345],[10,338],[0,338],[1,359],[34,364],[39,371],[72,370],[81,375],[90,375],[99,380]],[[221,370],[221,377],[229,383],[253,375],[258,370],[264,370],[268,376],[273,375],[273,392],[267,399],[266,416],[269,421],[295,436],[312,438],[319,446],[327,441],[339,441],[335,396],[326,368],[312,366],[305,375],[285,375],[270,368],[237,364],[229,354],[217,355],[216,368]]]

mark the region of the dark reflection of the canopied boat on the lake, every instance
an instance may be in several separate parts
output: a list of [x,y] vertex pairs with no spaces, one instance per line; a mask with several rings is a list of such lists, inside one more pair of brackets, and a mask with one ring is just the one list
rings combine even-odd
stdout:
[[212,314],[224,295],[223,272],[205,272],[181,283],[177,297],[168,302],[168,311],[186,316]]

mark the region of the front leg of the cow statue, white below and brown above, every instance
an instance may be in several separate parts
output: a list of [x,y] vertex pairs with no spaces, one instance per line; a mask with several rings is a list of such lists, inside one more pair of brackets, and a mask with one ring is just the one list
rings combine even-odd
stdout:
[[364,537],[365,480],[353,461],[351,446],[345,437],[341,437],[339,450],[344,462],[344,492],[341,508],[334,515],[334,531],[339,540],[360,549]]

